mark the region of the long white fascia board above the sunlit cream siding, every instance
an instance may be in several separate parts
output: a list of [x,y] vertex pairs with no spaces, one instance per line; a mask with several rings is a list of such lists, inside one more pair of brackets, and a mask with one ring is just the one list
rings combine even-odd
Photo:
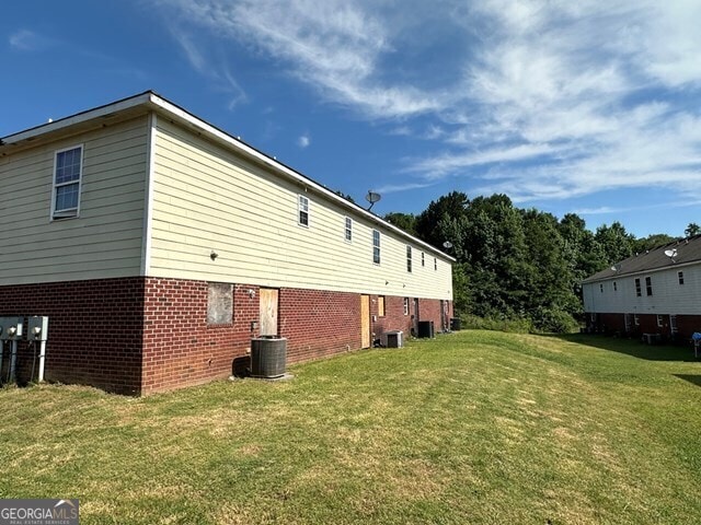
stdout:
[[235,150],[242,152],[243,154],[245,154],[246,156],[256,160],[260,163],[263,163],[265,165],[267,165],[268,167],[271,167],[272,170],[274,170],[275,172],[283,174],[289,178],[291,178],[292,180],[296,180],[297,183],[308,186],[311,189],[313,189],[314,191],[322,194],[325,198],[327,198],[331,201],[334,201],[335,203],[340,205],[343,208],[346,208],[347,210],[350,210],[354,214],[357,215],[361,215],[365,219],[367,219],[370,222],[375,222],[376,224],[382,225],[382,228],[392,231],[393,233],[398,234],[399,236],[406,238],[409,241],[411,241],[412,243],[424,247],[427,252],[430,252],[433,254],[439,255],[440,257],[443,257],[444,259],[450,260],[452,262],[456,261],[455,257],[451,257],[450,255],[435,248],[434,246],[432,246],[428,243],[425,243],[424,241],[421,241],[420,238],[414,237],[413,235],[407,234],[406,232],[402,231],[401,229],[397,228],[393,224],[390,224],[389,222],[384,221],[383,219],[377,217],[374,213],[370,213],[367,210],[364,210],[363,208],[360,208],[357,205],[354,205],[352,202],[348,202],[346,199],[344,199],[343,197],[336,195],[335,192],[331,191],[329,188],[323,187],[322,185],[320,185],[319,183],[303,176],[300,175],[299,173],[297,173],[295,170],[281,164],[280,162],[278,162],[275,159],[272,159],[271,156],[257,151],[256,149],[250,147],[249,144],[246,144],[245,142],[242,142],[239,139],[235,139],[233,137],[231,137],[229,133],[216,128],[215,126],[211,126],[210,124],[202,120],[200,118],[192,115],[191,113],[186,112],[185,109],[183,109],[180,106],[176,106],[175,104],[172,104],[171,102],[161,98],[160,96],[158,96],[154,93],[150,93],[150,100],[149,100],[150,104],[157,108],[157,110],[161,110],[163,113],[165,113],[166,115],[170,115],[172,117],[177,118],[181,121],[187,122],[198,129],[200,129],[202,131],[206,132],[208,136],[219,140],[220,142],[226,143],[228,147],[234,148]]

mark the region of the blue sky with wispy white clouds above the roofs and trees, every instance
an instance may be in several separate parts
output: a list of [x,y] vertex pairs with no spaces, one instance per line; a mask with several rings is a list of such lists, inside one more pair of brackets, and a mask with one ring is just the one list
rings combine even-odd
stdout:
[[146,90],[374,211],[701,223],[699,0],[5,2],[0,137]]

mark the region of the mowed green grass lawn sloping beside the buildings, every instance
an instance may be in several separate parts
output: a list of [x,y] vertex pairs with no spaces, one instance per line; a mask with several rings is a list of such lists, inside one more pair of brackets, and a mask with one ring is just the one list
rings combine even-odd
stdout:
[[0,390],[0,498],[81,523],[646,524],[701,516],[701,362],[469,330],[148,398]]

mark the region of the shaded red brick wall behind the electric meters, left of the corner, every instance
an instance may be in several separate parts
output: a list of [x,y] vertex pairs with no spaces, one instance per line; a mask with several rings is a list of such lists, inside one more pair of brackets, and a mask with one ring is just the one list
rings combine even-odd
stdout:
[[[47,381],[119,394],[140,393],[142,311],[140,278],[0,287],[0,316],[49,317]],[[28,381],[32,351],[19,349],[18,380]],[[4,357],[7,370],[9,345]]]

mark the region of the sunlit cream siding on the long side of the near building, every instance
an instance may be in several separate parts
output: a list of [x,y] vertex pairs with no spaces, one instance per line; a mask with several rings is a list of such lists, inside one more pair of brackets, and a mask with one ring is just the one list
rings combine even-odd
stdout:
[[[311,184],[285,180],[162,118],[154,151],[149,275],[452,299],[447,260],[438,271],[430,265],[406,272],[405,238],[353,217]],[[309,228],[298,224],[299,195],[309,198]],[[372,264],[372,229],[382,235],[380,265]]]

